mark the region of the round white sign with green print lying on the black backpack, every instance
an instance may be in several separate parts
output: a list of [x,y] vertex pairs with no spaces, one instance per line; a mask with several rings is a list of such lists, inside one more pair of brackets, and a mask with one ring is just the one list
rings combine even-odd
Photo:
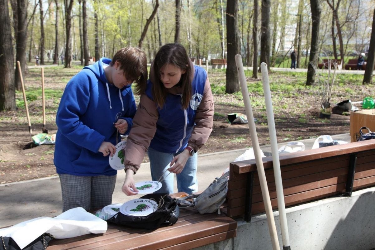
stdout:
[[157,203],[150,199],[133,199],[120,207],[121,214],[146,216],[157,210]]

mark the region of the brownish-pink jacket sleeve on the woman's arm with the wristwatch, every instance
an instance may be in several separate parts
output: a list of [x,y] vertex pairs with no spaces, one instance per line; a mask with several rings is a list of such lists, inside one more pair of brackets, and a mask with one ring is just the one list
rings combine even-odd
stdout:
[[195,126],[189,138],[189,142],[187,143],[189,146],[192,146],[195,151],[197,151],[204,145],[204,143],[207,142],[208,137],[211,134],[213,126],[213,114],[213,96],[211,92],[210,80],[208,80],[207,77],[204,85],[202,101],[195,114]]

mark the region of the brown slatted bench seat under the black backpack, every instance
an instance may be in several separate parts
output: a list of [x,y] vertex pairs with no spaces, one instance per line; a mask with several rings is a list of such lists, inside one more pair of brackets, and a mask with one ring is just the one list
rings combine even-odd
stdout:
[[[181,193],[171,195],[179,197]],[[225,211],[226,209],[222,209]],[[199,214],[195,208],[180,209],[173,226],[156,230],[135,229],[108,223],[102,234],[88,234],[75,238],[54,239],[48,250],[62,249],[190,249],[234,238],[237,221],[221,213]]]

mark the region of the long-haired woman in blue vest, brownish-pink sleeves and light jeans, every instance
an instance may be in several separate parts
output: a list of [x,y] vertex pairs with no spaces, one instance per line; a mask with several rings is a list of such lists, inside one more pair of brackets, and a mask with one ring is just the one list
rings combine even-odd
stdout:
[[[194,66],[181,44],[157,52],[147,85],[138,85],[140,103],[126,142],[126,178],[122,191],[136,194],[133,174],[148,152],[151,177],[162,182],[158,193],[198,191],[197,154],[212,131],[213,97],[206,71]],[[131,188],[131,189],[130,189]]]

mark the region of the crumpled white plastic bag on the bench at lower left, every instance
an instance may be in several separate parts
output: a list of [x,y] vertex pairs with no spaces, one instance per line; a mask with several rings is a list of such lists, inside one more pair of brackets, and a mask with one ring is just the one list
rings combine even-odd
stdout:
[[56,239],[65,239],[106,231],[107,221],[86,212],[83,208],[72,208],[54,218],[38,217],[0,229],[0,235],[12,237],[22,249],[45,232],[52,234]]

